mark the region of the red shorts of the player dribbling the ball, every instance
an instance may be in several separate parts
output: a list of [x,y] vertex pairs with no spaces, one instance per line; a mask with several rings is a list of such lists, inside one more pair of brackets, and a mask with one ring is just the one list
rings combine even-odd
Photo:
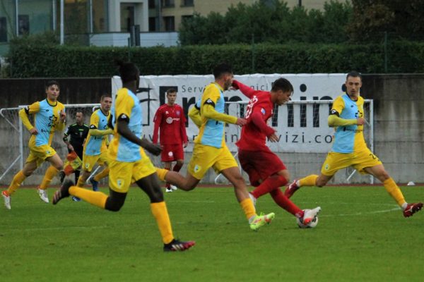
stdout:
[[283,161],[269,151],[245,151],[238,150],[238,158],[243,171],[249,175],[249,181],[252,186],[258,186],[259,180],[265,180],[278,171],[287,169]]

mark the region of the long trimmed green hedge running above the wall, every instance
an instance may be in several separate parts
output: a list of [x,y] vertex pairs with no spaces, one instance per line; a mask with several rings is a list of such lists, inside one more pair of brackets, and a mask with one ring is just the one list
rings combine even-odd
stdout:
[[[113,59],[131,60],[142,75],[209,74],[221,61],[236,74],[384,73],[383,44],[257,44],[189,47],[71,47],[11,44],[13,78],[110,77]],[[387,73],[424,73],[424,43],[391,42]]]

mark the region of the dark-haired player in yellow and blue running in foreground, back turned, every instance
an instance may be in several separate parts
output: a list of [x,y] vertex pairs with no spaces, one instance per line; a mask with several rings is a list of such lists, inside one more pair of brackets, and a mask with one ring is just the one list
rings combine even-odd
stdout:
[[143,113],[136,91],[139,87],[139,69],[133,63],[119,63],[122,88],[118,91],[112,106],[110,128],[114,128],[114,137],[110,142],[108,157],[110,159],[109,196],[73,186],[71,180],[65,180],[54,193],[53,204],[64,197],[73,195],[90,204],[112,212],[117,212],[124,205],[129,185],[135,182],[146,192],[151,201],[151,212],[158,223],[163,240],[163,250],[183,251],[194,245],[194,241],[179,241],[172,235],[170,217],[163,200],[158,175],[151,160],[143,148],[158,156],[159,145],[142,139]]

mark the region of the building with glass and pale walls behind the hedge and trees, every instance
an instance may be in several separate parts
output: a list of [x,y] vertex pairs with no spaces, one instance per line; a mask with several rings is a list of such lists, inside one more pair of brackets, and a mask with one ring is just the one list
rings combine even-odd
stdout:
[[[255,1],[273,0],[1,0],[0,56],[11,39],[59,32],[62,24],[65,42],[69,39],[86,45],[127,46],[131,26],[136,25],[143,37],[142,46],[172,46],[177,44],[177,30],[184,18],[194,13],[207,16],[212,11],[224,14],[231,5],[251,5]],[[307,9],[322,9],[325,1],[285,0],[289,7]]]

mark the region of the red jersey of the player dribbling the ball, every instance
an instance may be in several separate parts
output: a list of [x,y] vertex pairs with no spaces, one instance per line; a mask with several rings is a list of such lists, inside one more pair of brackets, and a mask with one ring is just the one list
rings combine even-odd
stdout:
[[242,127],[242,135],[235,145],[245,151],[269,151],[266,136],[276,131],[266,124],[273,114],[271,94],[268,91],[253,90],[237,80],[232,85],[250,98],[245,114],[247,124]]

